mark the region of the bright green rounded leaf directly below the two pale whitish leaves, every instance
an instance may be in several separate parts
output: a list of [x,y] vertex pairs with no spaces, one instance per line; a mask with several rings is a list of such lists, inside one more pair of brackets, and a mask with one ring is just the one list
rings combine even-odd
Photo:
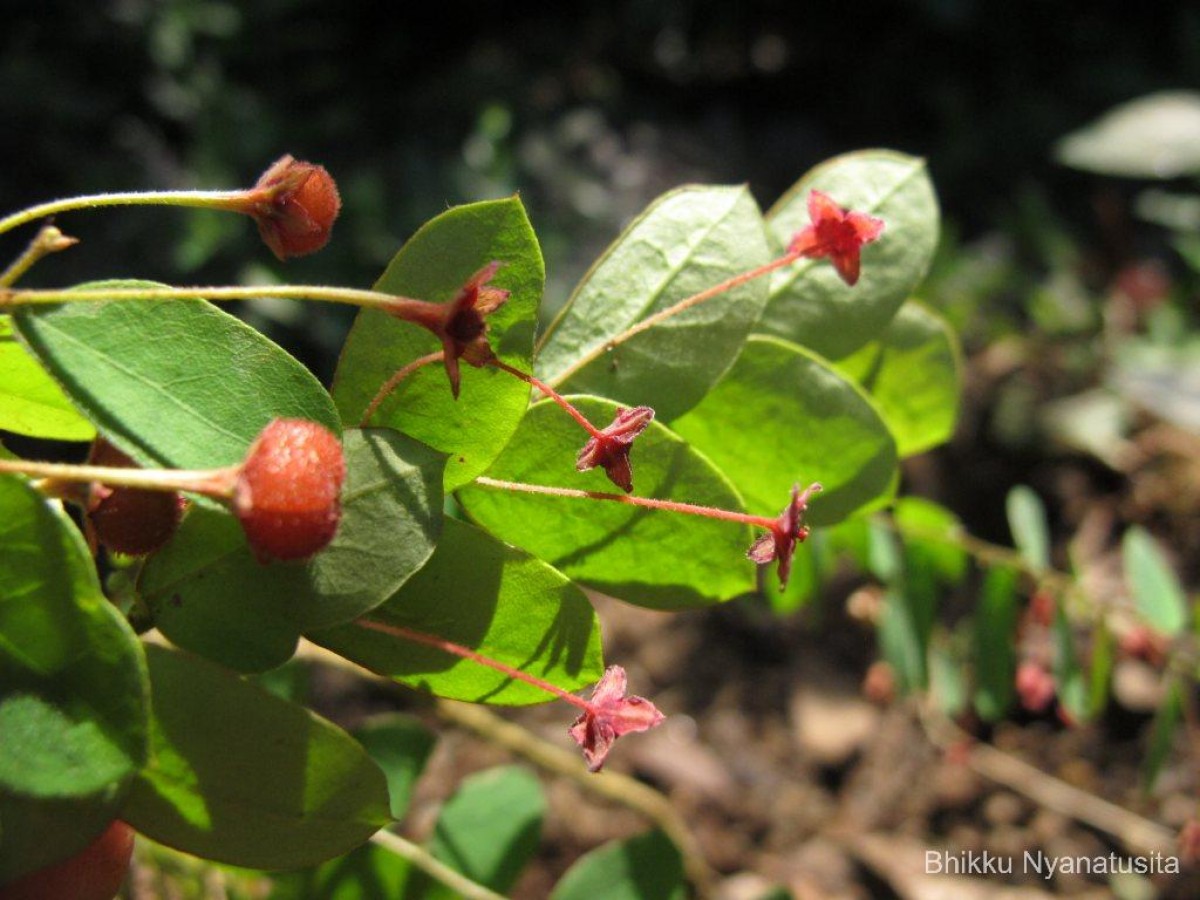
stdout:
[[775,515],[820,481],[806,521],[833,524],[894,491],[896,448],[859,388],[796,344],[755,337],[674,430],[725,473],[751,511]]

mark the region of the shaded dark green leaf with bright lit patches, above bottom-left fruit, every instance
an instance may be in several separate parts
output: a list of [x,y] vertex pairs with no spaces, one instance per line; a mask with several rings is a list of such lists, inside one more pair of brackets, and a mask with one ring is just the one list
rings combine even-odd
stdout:
[[341,728],[190,654],[148,646],[151,762],[121,817],[234,865],[313,865],[388,823],[388,786]]

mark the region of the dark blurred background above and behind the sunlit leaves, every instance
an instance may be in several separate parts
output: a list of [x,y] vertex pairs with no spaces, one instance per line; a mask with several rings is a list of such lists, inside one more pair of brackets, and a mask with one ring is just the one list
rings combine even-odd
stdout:
[[[996,510],[1031,462],[1022,449],[1040,451],[1036,407],[1109,371],[1096,338],[1111,331],[1112,284],[1141,298],[1126,304],[1127,330],[1195,328],[1194,276],[1170,230],[1134,224],[1144,185],[1054,156],[1120,102],[1200,86],[1188,4],[47,0],[10,1],[4,22],[0,209],[250,185],[283,152],[325,164],[346,204],[330,246],[287,266],[248,222],[217,214],[72,215],[61,224],[83,244],[31,286],[368,286],[448,205],[520,191],[547,258],[548,313],[670,187],[748,181],[766,208],[834,154],[895,148],[929,160],[943,204],[926,300],[968,352],[998,342],[985,372],[1020,370],[983,398],[995,402],[976,398],[986,421],[967,414],[972,433],[1016,451],[994,496],[977,497]],[[7,235],[0,254],[25,239]],[[1146,296],[1159,294],[1174,312],[1146,325]],[[350,317],[265,301],[241,313],[326,379]],[[1030,329],[1055,352],[1000,340]],[[1116,437],[1118,413],[1099,416]],[[971,478],[986,494],[988,479]]]

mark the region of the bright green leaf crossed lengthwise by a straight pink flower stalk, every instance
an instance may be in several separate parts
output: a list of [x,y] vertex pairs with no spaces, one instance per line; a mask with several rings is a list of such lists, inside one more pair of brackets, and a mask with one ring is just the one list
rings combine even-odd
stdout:
[[[617,404],[572,397],[593,422],[607,425]],[[536,403],[490,478],[613,491],[602,469],[578,473],[587,434],[548,401]],[[740,510],[730,484],[665,426],[650,422],[632,448],[638,494]],[[607,500],[472,487],[460,492],[468,515],[500,540],[552,563],[575,581],[638,606],[671,610],[727,600],[754,587],[744,524]],[[781,498],[780,505],[786,500]]]

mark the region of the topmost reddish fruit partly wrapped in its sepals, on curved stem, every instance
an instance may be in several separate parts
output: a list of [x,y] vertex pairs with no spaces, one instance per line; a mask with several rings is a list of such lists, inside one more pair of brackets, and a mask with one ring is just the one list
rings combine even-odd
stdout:
[[337,184],[322,166],[283,156],[250,191],[258,233],[280,259],[316,253],[329,242],[342,208]]

